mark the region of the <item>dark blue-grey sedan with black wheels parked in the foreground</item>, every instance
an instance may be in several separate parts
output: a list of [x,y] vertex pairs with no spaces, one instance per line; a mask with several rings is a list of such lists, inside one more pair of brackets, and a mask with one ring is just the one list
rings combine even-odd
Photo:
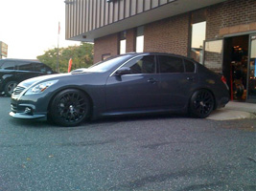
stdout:
[[221,76],[194,60],[169,53],[127,53],[69,74],[22,81],[12,94],[10,115],[51,118],[62,126],[149,113],[203,118],[228,101]]

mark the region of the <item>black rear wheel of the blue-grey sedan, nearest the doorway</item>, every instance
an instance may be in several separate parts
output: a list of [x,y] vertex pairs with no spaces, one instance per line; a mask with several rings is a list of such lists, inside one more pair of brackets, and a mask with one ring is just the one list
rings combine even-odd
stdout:
[[198,90],[190,100],[190,115],[198,118],[208,117],[214,109],[214,96],[207,90]]

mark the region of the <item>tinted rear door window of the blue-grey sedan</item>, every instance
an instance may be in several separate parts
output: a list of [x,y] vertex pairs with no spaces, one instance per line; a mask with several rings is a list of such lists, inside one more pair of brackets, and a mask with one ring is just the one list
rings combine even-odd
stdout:
[[183,61],[179,57],[160,55],[160,73],[184,73]]

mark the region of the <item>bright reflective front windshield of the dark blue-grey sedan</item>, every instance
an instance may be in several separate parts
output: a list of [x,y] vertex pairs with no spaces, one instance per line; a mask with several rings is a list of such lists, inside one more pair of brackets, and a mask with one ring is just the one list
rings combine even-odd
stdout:
[[73,71],[72,73],[85,73],[85,72],[105,73],[106,71],[109,71],[111,68],[125,62],[126,60],[128,60],[129,57],[130,57],[130,54],[117,55],[114,57],[107,58],[101,62],[98,62],[90,66],[89,68],[78,69]]

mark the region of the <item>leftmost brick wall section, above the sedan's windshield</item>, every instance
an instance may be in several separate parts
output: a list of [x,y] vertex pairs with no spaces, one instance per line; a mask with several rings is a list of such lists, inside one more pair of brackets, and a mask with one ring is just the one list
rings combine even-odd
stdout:
[[117,55],[119,53],[119,35],[110,34],[94,40],[94,63],[102,60],[104,54]]

